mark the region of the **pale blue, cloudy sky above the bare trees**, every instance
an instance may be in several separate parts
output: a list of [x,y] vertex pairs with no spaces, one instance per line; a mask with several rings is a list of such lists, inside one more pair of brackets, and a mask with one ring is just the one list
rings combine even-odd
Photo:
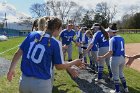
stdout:
[[[7,3],[15,6],[17,11],[31,15],[29,8],[32,4],[44,3],[47,0],[0,0],[0,1],[6,1]],[[72,0],[72,1],[77,2],[78,4],[84,6],[87,9],[89,8],[95,9],[96,4],[100,2],[107,2],[110,7],[116,5],[117,6],[117,14],[115,16],[116,19],[121,19],[122,15],[126,13],[131,13],[132,11],[130,7],[132,8],[132,6],[139,7],[139,9],[135,9],[134,11],[140,12],[140,0]]]

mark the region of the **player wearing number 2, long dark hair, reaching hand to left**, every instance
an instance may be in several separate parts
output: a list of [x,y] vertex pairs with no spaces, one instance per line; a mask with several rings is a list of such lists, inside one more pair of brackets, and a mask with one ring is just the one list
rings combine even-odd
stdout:
[[[95,23],[93,25],[93,27],[96,30],[96,32],[93,35],[92,42],[88,46],[86,53],[93,47],[93,45],[98,45],[98,48],[99,48],[98,56],[101,56],[101,55],[104,55],[105,53],[108,52],[109,36],[108,36],[108,33],[101,27],[100,24]],[[112,78],[109,60],[110,60],[110,58],[108,57],[108,58],[104,58],[104,59],[99,61],[99,63],[98,63],[98,78],[95,79],[95,81],[100,82],[100,80],[102,79],[104,62],[106,62],[107,66],[108,66],[109,78]]]

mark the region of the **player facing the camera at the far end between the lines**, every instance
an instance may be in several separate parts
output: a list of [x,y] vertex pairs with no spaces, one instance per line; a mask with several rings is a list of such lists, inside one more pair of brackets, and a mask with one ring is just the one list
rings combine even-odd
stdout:
[[68,24],[67,29],[64,29],[63,31],[61,31],[59,35],[60,36],[59,39],[62,40],[62,45],[64,46],[63,48],[64,59],[67,52],[68,61],[72,61],[72,41],[74,41],[74,36],[76,35],[76,33],[74,32],[72,28],[73,28],[73,25]]

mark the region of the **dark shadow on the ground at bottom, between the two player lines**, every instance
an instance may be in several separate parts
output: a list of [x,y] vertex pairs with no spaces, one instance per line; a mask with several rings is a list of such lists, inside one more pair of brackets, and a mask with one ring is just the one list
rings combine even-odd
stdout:
[[109,81],[97,83],[94,79],[92,82],[87,81],[86,79],[76,78],[73,79],[78,85],[83,93],[109,93],[110,89],[113,89],[113,84]]

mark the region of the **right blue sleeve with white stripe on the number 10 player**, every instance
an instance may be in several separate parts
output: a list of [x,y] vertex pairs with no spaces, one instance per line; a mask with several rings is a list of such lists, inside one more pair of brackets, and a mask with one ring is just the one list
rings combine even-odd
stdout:
[[57,44],[54,46],[54,64],[64,64],[64,56],[62,52],[62,44],[57,41]]

